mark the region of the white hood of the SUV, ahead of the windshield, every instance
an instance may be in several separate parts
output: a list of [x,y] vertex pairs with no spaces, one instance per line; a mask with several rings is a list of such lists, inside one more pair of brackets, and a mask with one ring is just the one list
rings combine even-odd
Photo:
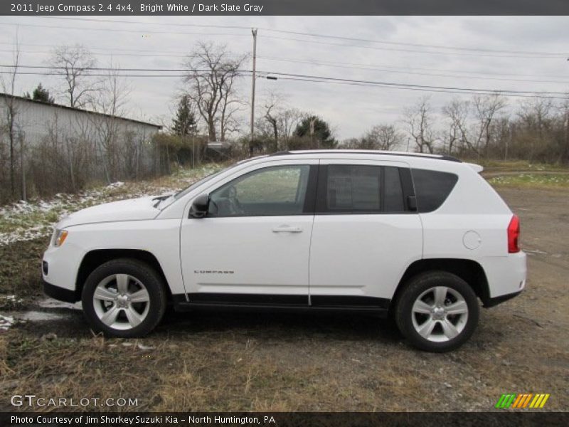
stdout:
[[57,228],[89,223],[152,219],[160,212],[159,209],[154,208],[154,204],[156,204],[154,197],[141,197],[91,206],[65,216],[58,223]]

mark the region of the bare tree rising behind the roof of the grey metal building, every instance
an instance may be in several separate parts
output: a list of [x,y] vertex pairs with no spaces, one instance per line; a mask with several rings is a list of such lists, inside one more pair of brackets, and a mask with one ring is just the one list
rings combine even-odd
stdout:
[[62,92],[70,107],[85,107],[99,83],[90,76],[90,70],[97,65],[92,53],[80,44],[59,46],[52,51],[48,63],[64,78]]

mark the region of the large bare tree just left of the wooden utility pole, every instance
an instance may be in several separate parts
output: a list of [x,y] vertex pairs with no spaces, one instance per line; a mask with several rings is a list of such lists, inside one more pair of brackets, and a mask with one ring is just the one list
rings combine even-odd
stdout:
[[198,112],[206,122],[210,141],[225,141],[228,132],[235,129],[235,112],[242,102],[238,100],[235,80],[247,56],[232,59],[231,53],[223,45],[198,43],[186,58],[186,94],[198,107]]

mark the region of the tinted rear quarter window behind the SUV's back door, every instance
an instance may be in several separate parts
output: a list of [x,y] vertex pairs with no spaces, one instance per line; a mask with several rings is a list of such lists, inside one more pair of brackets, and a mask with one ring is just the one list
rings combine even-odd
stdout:
[[450,172],[411,169],[411,173],[420,213],[439,209],[458,181],[458,176]]

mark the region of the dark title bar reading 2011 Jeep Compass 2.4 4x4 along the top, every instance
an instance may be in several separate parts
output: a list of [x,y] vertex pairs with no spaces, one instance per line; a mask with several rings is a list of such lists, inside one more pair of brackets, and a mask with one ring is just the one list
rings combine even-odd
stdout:
[[346,16],[569,15],[568,0],[244,0],[0,2],[0,15],[18,16]]

